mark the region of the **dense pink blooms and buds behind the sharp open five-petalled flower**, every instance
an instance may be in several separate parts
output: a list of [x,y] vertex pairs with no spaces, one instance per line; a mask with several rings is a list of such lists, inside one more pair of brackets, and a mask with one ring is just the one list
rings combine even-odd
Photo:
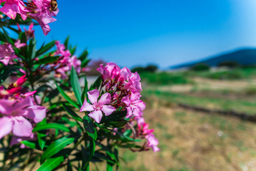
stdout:
[[140,100],[141,83],[140,76],[137,72],[132,73],[129,68],[120,68],[113,62],[103,64],[97,68],[102,74],[103,85],[105,91],[114,91],[112,102],[115,102],[115,107],[124,106],[127,109],[126,117],[141,116],[141,111],[146,107],[145,103]]

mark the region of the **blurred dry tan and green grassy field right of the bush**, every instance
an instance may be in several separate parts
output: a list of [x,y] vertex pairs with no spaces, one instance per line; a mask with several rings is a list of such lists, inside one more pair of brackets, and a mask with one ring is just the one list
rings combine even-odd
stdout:
[[[241,76],[224,76],[234,73]],[[256,170],[256,123],[177,105],[255,115],[255,76],[251,68],[142,74],[144,117],[155,129],[161,151],[121,150],[121,170]]]

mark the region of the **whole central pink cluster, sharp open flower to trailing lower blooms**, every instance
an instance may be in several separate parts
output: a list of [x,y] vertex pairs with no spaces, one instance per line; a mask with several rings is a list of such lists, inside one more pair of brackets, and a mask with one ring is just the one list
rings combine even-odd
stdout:
[[[132,73],[127,67],[121,69],[112,62],[107,63],[105,67],[100,64],[97,71],[102,74],[101,88],[105,88],[106,93],[101,95],[99,99],[99,91],[97,89],[88,91],[88,99],[91,104],[85,100],[80,112],[92,111],[88,116],[92,117],[96,123],[100,123],[103,113],[108,116],[116,109],[125,107],[127,110],[126,118],[129,119],[129,123],[137,122],[136,137],[147,139],[147,142],[140,150],[148,150],[151,147],[154,152],[159,151],[160,149],[157,147],[159,141],[152,134],[154,129],[148,129],[149,125],[141,117],[143,115],[142,111],[145,109],[145,103],[140,100],[140,91],[142,89],[139,74],[137,72]],[[108,93],[111,91],[112,93]],[[122,132],[128,129],[130,128],[127,126],[122,129]],[[117,131],[117,128],[114,128],[114,131]]]

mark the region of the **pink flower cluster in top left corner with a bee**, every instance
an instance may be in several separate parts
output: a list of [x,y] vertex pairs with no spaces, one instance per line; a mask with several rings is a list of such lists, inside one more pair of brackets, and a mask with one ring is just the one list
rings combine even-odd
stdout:
[[5,5],[0,9],[3,14],[11,19],[15,19],[17,13],[21,15],[24,21],[27,17],[35,19],[41,26],[44,35],[51,31],[48,24],[56,21],[53,17],[59,13],[55,0],[33,0],[30,3],[22,0],[0,0],[0,3],[2,2],[5,2]]

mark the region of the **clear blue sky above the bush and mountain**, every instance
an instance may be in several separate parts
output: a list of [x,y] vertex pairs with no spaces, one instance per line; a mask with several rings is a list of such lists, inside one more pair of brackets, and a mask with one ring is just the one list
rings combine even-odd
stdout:
[[[70,3],[71,2],[71,3]],[[242,47],[256,47],[255,0],[58,0],[57,21],[38,43],[70,35],[91,59],[166,68]]]

